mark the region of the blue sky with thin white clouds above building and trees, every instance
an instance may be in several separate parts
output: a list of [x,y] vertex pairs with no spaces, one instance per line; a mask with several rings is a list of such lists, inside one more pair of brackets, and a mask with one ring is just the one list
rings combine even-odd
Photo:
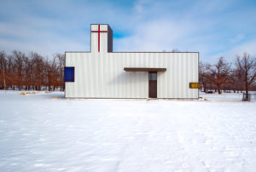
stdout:
[[114,51],[199,51],[202,61],[256,55],[256,1],[1,0],[0,50],[48,55],[90,49],[108,23]]

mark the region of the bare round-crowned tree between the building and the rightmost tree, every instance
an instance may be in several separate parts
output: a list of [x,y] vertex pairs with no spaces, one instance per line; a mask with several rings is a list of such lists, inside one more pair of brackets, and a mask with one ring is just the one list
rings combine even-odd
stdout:
[[230,75],[230,64],[220,57],[216,64],[209,67],[210,75],[208,79],[218,87],[218,94],[221,94],[221,87],[224,83],[228,83]]

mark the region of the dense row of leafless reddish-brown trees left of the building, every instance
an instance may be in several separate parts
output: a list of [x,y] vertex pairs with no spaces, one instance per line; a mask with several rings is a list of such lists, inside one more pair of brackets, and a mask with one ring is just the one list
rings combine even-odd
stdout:
[[38,53],[1,51],[0,89],[64,90],[64,61],[64,54],[54,54],[49,60]]

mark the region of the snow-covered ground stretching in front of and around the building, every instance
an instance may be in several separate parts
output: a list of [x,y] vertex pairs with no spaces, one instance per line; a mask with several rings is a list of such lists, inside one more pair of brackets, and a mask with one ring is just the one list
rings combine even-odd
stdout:
[[0,91],[0,171],[256,169],[256,103],[240,101],[241,95],[201,95],[207,100],[63,96]]

